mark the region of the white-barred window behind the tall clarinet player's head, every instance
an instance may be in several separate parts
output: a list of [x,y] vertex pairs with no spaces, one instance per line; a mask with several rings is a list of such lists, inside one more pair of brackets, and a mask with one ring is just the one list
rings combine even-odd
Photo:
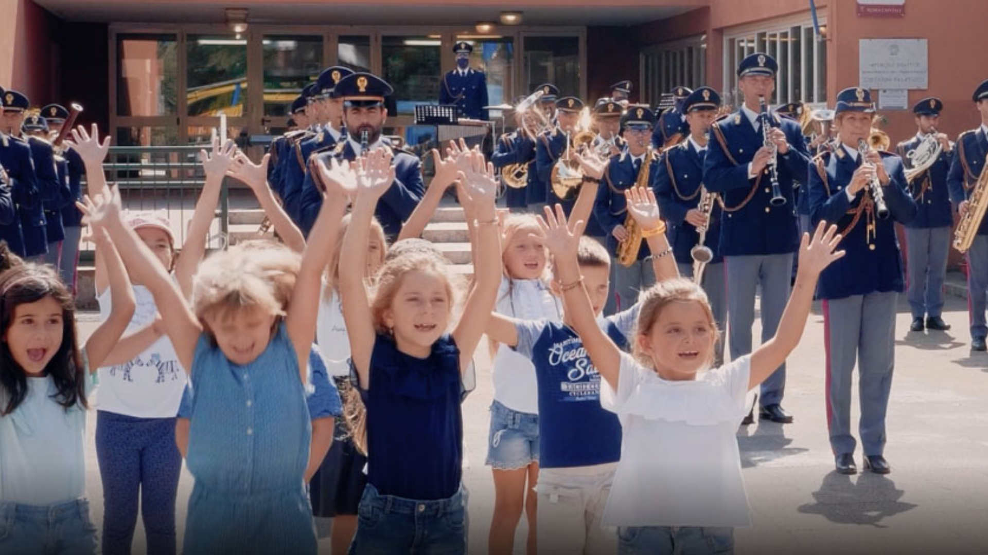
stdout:
[[737,64],[754,52],[766,52],[779,62],[776,104],[827,102],[827,43],[816,39],[810,22],[725,35],[724,83],[728,94],[725,102],[740,104]]

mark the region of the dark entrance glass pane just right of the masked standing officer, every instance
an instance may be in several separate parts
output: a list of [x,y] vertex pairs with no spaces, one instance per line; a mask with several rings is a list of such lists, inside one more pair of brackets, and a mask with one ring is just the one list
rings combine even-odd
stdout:
[[525,38],[526,91],[552,83],[561,96],[580,96],[580,39]]

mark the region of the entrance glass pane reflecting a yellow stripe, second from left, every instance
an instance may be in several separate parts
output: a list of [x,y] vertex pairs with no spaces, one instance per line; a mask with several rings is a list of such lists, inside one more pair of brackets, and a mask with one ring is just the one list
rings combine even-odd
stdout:
[[190,35],[186,56],[189,116],[243,116],[247,106],[247,40]]

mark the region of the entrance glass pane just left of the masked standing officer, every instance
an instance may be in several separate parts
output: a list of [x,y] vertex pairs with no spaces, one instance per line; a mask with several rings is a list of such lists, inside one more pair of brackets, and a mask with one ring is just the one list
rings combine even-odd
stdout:
[[441,40],[430,37],[382,37],[383,78],[394,87],[398,114],[439,100]]

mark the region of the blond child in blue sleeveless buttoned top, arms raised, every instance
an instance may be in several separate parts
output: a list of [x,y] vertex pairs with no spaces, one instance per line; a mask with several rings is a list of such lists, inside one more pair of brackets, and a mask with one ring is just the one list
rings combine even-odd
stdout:
[[[119,207],[119,191],[112,204]],[[207,258],[190,307],[119,211],[108,224],[131,277],[151,290],[196,391],[187,554],[316,551],[304,485],[311,428],[303,386],[321,274],[346,204],[345,192],[326,193],[288,311],[278,299],[285,277],[260,261],[276,254],[238,250]]]

